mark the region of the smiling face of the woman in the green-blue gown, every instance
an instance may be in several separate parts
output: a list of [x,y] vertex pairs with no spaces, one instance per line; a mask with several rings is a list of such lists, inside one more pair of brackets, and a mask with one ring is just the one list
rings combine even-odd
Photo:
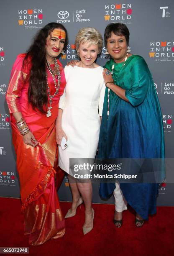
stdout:
[[127,49],[125,36],[117,36],[111,32],[111,37],[107,39],[107,51],[115,62],[119,63],[125,60]]

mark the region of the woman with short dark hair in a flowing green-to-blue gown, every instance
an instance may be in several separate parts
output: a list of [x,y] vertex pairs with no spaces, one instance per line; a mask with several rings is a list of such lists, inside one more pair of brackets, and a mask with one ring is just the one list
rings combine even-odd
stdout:
[[[106,84],[102,112],[98,158],[164,159],[164,131],[161,109],[146,61],[127,52],[129,31],[123,23],[109,24],[105,44],[113,57],[105,64]],[[164,170],[161,170],[164,177]],[[100,184],[100,196],[114,193],[117,204],[114,223],[122,225],[126,201],[136,211],[136,226],[141,227],[148,214],[156,213],[157,183]],[[119,200],[117,200],[117,195]],[[122,201],[122,202],[121,202]],[[123,202],[124,201],[124,202]],[[120,208],[121,209],[121,208]]]

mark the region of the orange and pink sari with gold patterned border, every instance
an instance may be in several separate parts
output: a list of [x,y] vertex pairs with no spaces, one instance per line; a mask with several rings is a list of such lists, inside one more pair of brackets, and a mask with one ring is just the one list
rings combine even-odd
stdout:
[[[46,117],[33,110],[28,103],[28,78],[31,64],[23,67],[25,54],[19,54],[13,65],[6,100],[10,110],[13,144],[17,155],[16,164],[20,178],[20,195],[24,214],[24,234],[29,234],[29,244],[40,245],[50,238],[62,237],[65,233],[64,218],[54,184],[56,156],[55,120],[59,99],[66,84],[61,71],[59,93],[53,98],[51,116]],[[51,95],[55,92],[54,81],[47,72]],[[36,147],[26,145],[20,135],[13,113],[21,112],[28,127],[38,141]]]

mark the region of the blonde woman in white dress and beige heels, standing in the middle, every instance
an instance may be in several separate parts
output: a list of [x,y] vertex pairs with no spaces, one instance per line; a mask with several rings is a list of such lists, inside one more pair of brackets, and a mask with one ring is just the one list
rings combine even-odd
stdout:
[[[80,61],[75,67],[64,68],[67,81],[64,94],[59,101],[59,115],[56,120],[56,140],[60,145],[64,136],[68,140],[65,150],[59,146],[59,166],[69,174],[70,158],[95,158],[102,116],[105,83],[103,68],[95,63],[102,50],[102,36],[95,28],[79,30],[75,46]],[[65,218],[76,214],[77,207],[84,201],[84,235],[93,228],[91,182],[76,182],[69,174],[72,191],[72,207]]]

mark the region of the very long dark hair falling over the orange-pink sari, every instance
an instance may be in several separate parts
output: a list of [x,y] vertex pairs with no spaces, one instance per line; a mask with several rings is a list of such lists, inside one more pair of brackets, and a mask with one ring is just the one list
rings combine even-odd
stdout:
[[48,103],[47,84],[46,84],[46,38],[54,30],[60,28],[65,31],[66,39],[64,43],[65,50],[68,44],[68,36],[66,28],[59,23],[49,23],[42,28],[34,37],[33,44],[27,51],[23,65],[27,65],[31,59],[31,70],[29,76],[28,102],[31,103],[33,109],[36,108],[41,113],[46,113],[44,106]]

